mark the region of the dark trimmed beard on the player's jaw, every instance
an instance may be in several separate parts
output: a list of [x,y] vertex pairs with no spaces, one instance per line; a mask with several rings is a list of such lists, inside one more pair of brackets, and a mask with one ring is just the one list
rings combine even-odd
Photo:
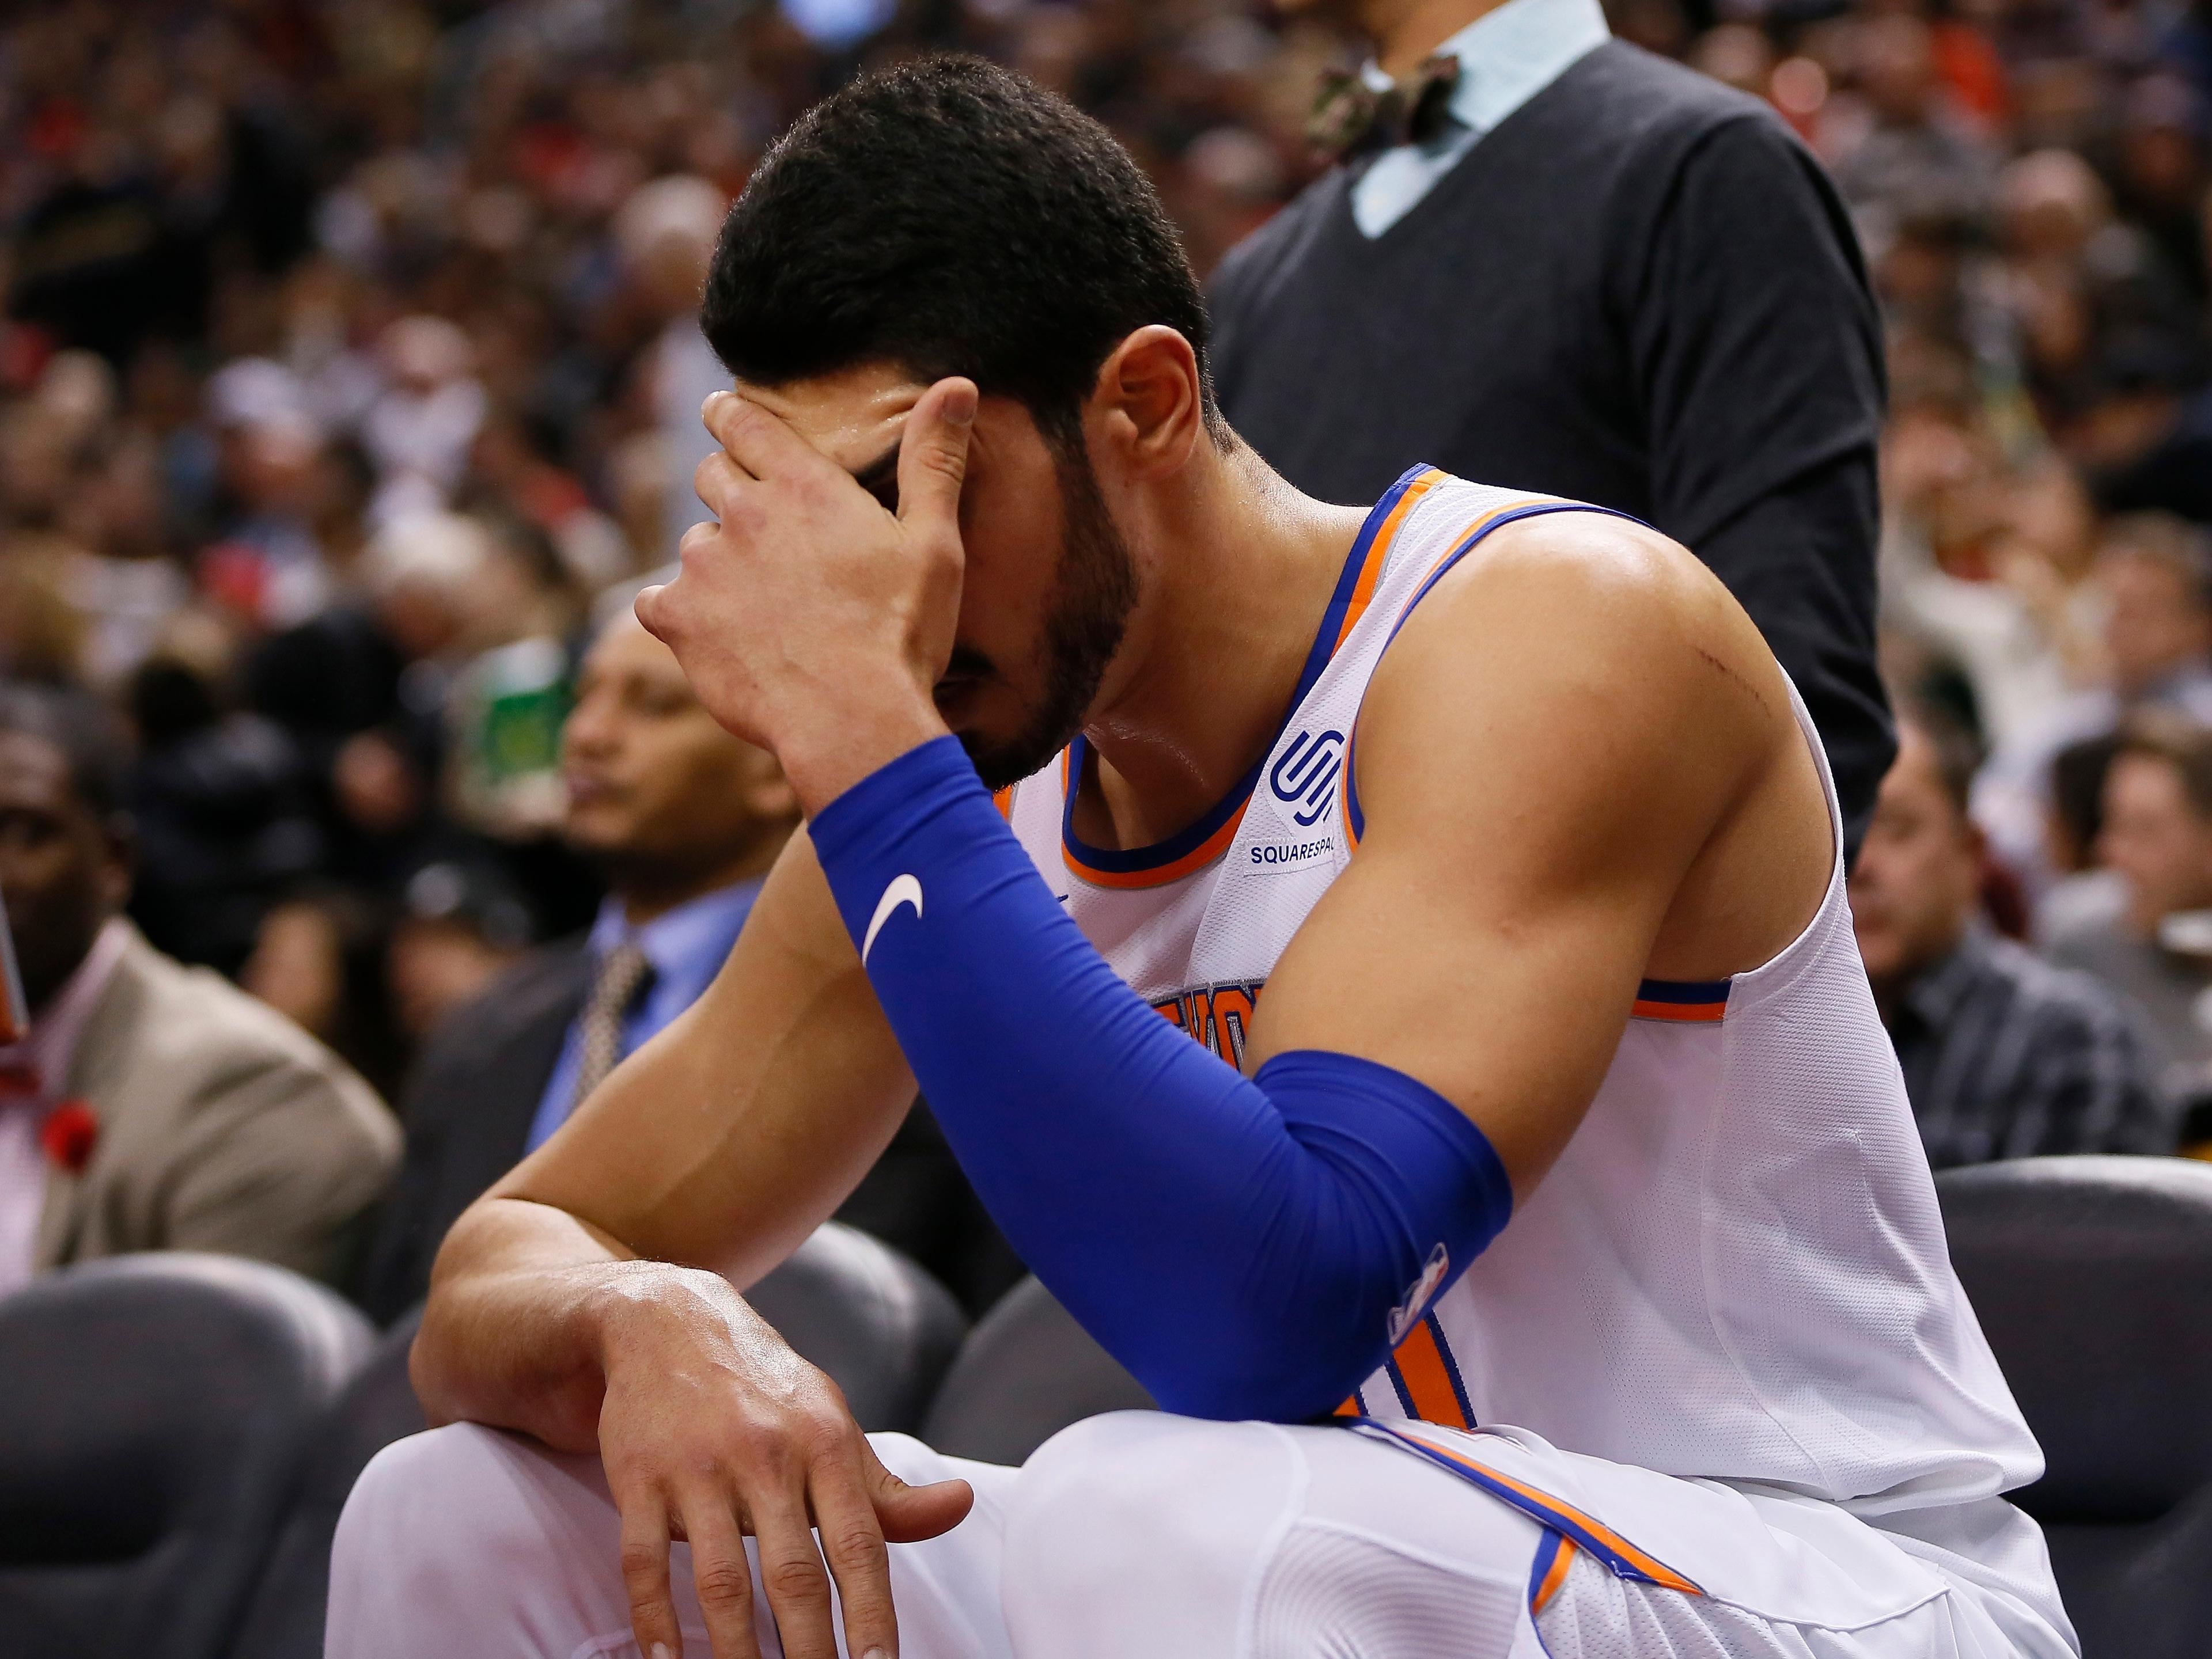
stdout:
[[1084,728],[1137,604],[1137,566],[1106,511],[1079,434],[1071,445],[1053,445],[1053,471],[1060,476],[1062,533],[1060,571],[1044,617],[1044,699],[1029,726],[1004,743],[960,734],[960,745],[991,790],[1042,770]]

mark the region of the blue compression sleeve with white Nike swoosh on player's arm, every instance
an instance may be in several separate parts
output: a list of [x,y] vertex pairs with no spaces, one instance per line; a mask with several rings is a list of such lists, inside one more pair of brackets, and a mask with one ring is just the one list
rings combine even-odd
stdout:
[[1037,876],[951,737],[814,849],[984,1206],[1170,1411],[1332,1411],[1513,1208],[1436,1091],[1340,1053],[1252,1079],[1161,1020]]

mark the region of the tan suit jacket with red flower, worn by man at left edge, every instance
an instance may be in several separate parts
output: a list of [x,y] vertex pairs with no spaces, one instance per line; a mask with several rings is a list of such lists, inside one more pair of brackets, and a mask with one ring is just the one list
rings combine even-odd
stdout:
[[219,1250],[330,1279],[400,1152],[343,1060],[135,929],[77,1035],[69,1093],[100,1117],[84,1170],[46,1172],[35,1270]]

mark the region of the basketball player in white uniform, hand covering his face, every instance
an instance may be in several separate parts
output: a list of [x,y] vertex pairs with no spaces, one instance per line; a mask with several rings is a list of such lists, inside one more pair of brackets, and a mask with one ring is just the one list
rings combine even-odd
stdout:
[[[334,1659],[2075,1652],[1825,761],[1694,557],[1296,495],[1130,159],[975,62],[805,117],[706,327],[719,524],[639,615],[810,834],[449,1237]],[[962,1464],[748,1312],[916,1082],[1166,1411]]]

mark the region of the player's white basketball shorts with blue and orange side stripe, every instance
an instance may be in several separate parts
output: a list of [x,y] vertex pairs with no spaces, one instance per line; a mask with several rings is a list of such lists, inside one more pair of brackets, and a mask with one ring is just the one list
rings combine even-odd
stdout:
[[[1515,1429],[1124,1411],[1024,1469],[874,1444],[902,1480],[975,1486],[951,1533],[891,1546],[905,1659],[2075,1655],[2022,1599],[1832,1504]],[[617,1531],[595,1458],[473,1425],[387,1447],[338,1524],[327,1659],[635,1659]],[[686,1655],[706,1659],[681,1544],[672,1577]]]

